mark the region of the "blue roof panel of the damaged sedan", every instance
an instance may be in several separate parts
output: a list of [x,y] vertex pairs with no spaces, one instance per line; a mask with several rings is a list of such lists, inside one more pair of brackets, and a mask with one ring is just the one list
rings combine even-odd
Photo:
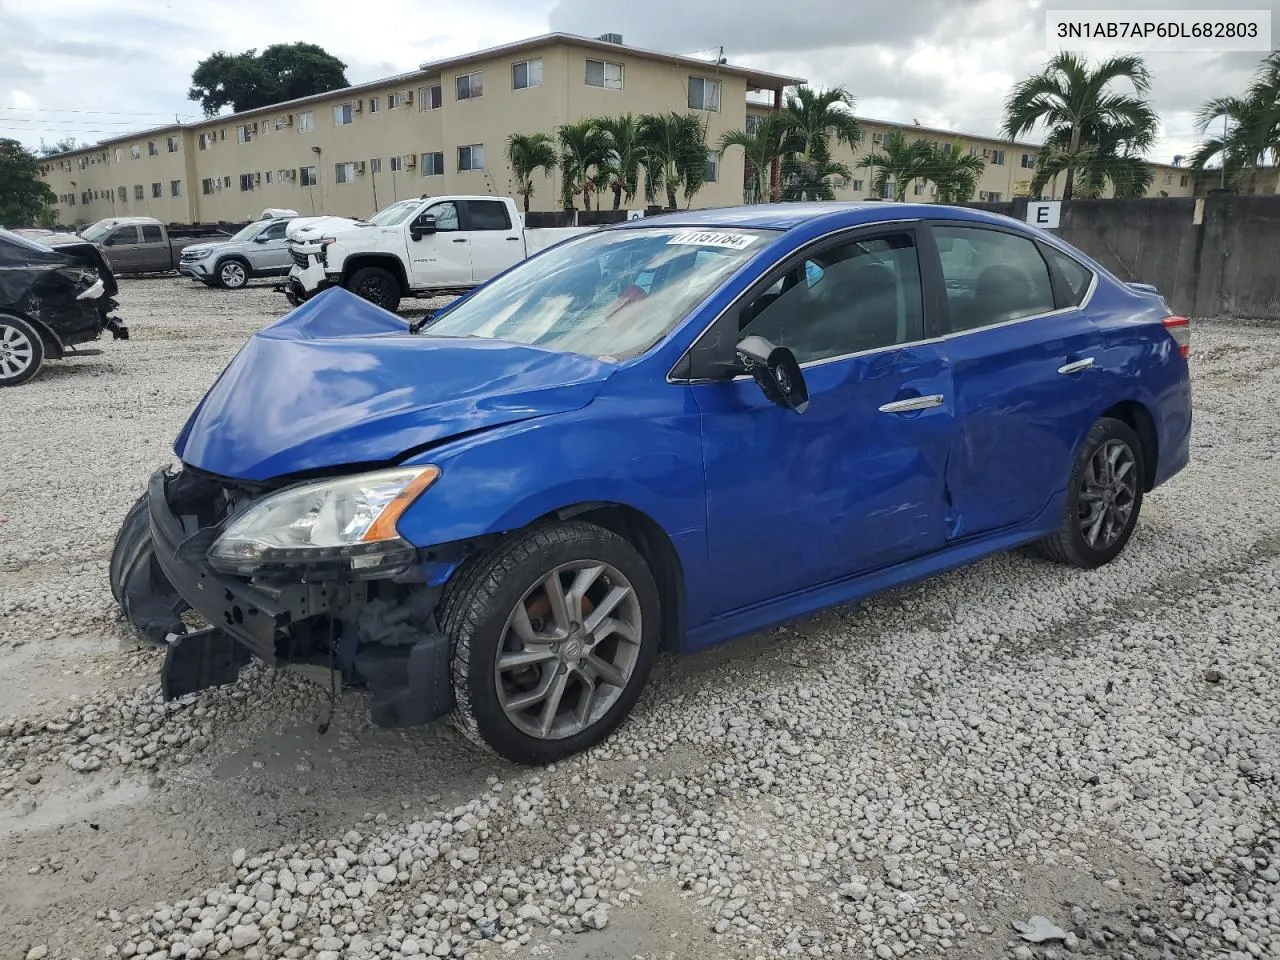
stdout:
[[794,230],[815,221],[824,221],[831,229],[840,229],[884,220],[973,220],[1002,227],[1018,224],[1025,228],[1025,224],[1019,220],[973,207],[947,204],[897,204],[878,200],[749,204],[746,206],[658,214],[618,225],[632,229],[643,227],[695,227],[699,229],[736,227],[739,229]]

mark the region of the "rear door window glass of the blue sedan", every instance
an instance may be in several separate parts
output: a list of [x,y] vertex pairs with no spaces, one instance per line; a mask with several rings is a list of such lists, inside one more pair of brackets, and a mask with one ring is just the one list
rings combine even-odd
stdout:
[[980,227],[937,227],[934,237],[954,332],[1055,310],[1048,266],[1033,241]]

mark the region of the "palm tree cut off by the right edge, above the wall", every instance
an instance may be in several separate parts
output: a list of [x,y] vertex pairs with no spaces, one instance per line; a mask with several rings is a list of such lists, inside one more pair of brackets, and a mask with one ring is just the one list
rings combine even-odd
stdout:
[[1213,97],[1201,106],[1196,132],[1203,136],[1210,131],[1213,133],[1196,147],[1190,165],[1203,174],[1217,163],[1229,189],[1240,189],[1258,166],[1280,164],[1280,51],[1262,58],[1242,95]]

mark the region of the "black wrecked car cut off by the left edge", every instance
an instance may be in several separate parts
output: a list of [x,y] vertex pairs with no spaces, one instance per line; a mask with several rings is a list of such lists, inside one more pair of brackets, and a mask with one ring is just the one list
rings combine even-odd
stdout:
[[129,332],[111,316],[115,278],[91,243],[54,250],[0,229],[0,387],[33,378],[104,330]]

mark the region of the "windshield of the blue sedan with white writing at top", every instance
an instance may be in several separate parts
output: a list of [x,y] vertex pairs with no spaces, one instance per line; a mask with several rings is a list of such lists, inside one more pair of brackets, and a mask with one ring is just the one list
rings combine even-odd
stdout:
[[549,250],[440,315],[429,337],[484,337],[622,360],[643,353],[764,248],[765,230],[602,230]]

